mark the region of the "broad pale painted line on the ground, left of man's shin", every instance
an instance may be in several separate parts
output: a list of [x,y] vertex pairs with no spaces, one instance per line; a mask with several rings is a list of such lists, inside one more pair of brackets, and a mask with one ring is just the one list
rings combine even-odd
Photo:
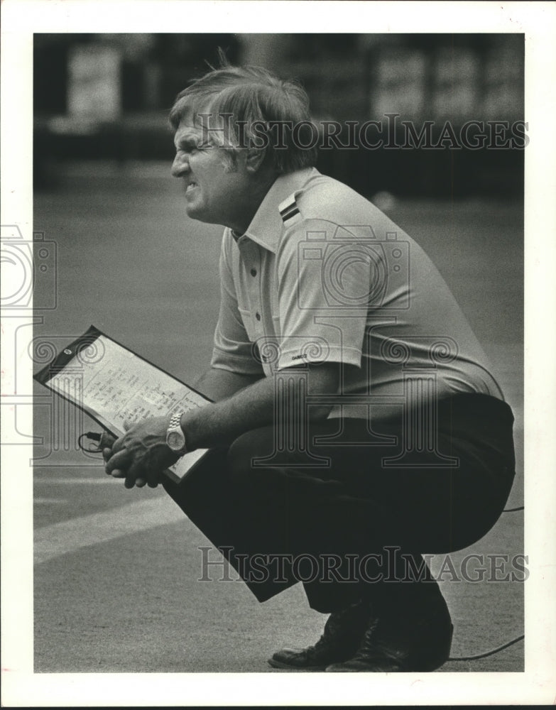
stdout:
[[48,562],[49,559],[75,552],[82,547],[99,545],[101,542],[109,542],[133,532],[176,523],[183,518],[184,514],[180,508],[164,496],[45,525],[35,531],[35,564]]

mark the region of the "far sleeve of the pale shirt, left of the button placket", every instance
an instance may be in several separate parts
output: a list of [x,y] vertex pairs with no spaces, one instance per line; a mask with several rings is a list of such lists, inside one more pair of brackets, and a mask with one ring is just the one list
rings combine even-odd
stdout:
[[224,231],[219,261],[220,311],[214,331],[211,366],[242,375],[261,375],[262,366],[254,356],[253,343],[249,341],[238,310],[231,268],[232,239],[229,231]]

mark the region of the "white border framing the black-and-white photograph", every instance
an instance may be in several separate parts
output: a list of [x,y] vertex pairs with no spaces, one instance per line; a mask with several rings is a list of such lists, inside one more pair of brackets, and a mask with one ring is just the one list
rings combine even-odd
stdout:
[[[2,447],[2,704],[552,704],[556,683],[553,324],[556,4],[4,0],[1,28],[1,224],[31,238],[33,32],[525,33],[525,672],[366,674],[34,674],[31,446]],[[131,10],[131,8],[133,8]],[[164,11],[162,11],[164,9]],[[31,317],[31,316],[30,316]],[[6,323],[2,314],[3,330]],[[9,337],[5,340],[9,341]],[[4,342],[4,355],[11,342]],[[540,355],[543,359],[540,359]],[[4,391],[11,386],[3,373]],[[31,391],[31,373],[29,373]],[[31,409],[31,408],[28,408]],[[21,422],[32,430],[32,415]],[[7,450],[6,450],[7,449]],[[84,703],[85,701],[85,703]]]

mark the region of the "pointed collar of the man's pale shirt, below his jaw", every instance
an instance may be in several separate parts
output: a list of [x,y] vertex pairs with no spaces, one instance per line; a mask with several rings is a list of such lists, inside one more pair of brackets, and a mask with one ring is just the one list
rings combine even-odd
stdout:
[[284,223],[278,211],[278,205],[292,193],[298,192],[309,178],[320,175],[315,168],[304,168],[288,175],[279,175],[266,193],[263,202],[258,207],[251,224],[244,234],[237,237],[237,241],[244,236],[249,237],[264,249],[276,253],[280,234]]

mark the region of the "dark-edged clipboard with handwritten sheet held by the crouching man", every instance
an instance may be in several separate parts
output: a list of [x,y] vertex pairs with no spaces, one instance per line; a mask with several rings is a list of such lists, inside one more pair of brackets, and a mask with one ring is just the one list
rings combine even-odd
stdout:
[[[121,437],[124,421],[187,412],[212,400],[92,325],[33,379],[83,410],[109,434]],[[164,474],[180,483],[208,449],[185,454]]]

